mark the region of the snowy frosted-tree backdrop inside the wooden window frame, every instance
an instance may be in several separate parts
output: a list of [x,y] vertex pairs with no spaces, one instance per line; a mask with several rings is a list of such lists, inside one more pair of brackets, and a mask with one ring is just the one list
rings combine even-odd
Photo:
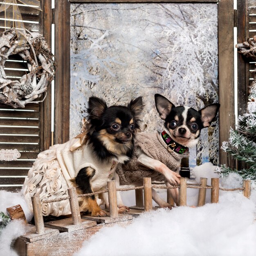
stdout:
[[[143,96],[148,130],[162,130],[155,93],[195,109],[218,102],[217,11],[217,4],[71,4],[70,137],[81,132],[92,95],[109,105]],[[191,164],[195,154],[218,164],[218,122],[200,138]]]

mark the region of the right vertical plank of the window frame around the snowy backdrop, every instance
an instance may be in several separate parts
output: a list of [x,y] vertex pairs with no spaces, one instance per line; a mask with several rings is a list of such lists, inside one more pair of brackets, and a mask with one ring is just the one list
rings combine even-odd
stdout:
[[[235,128],[233,31],[233,0],[220,1],[218,3],[220,146],[222,141],[228,141],[230,126]],[[223,150],[220,150],[220,164],[235,167],[235,161],[228,159],[227,153]]]

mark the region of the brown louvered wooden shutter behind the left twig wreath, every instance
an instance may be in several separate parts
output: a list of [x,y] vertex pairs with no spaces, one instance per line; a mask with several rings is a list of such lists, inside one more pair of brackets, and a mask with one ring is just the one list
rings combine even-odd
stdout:
[[[2,4],[2,1],[0,1]],[[51,0],[41,0],[43,11],[18,2],[25,28],[38,31],[51,45]],[[4,31],[4,12],[0,13],[0,32]],[[10,79],[19,79],[27,72],[25,61],[11,56],[5,65]],[[21,189],[29,168],[38,153],[51,145],[51,88],[43,103],[29,103],[25,108],[13,109],[0,104],[0,150],[17,149],[21,156],[16,161],[0,161],[0,189]]]

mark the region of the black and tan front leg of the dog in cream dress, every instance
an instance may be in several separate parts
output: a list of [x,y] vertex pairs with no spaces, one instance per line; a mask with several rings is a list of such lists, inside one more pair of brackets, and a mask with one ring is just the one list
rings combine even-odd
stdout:
[[[95,170],[91,167],[82,168],[75,178],[78,191],[83,194],[92,193],[91,178],[94,176]],[[80,208],[89,211],[94,217],[107,216],[106,211],[103,211],[97,204],[94,195],[83,197],[80,203]]]

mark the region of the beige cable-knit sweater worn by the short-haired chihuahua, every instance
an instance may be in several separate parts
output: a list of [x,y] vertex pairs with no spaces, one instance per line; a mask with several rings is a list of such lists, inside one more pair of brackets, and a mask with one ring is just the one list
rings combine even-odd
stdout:
[[151,177],[152,181],[164,181],[165,177],[152,169],[149,169],[137,162],[137,148],[149,157],[156,159],[165,164],[172,171],[180,170],[180,160],[182,155],[169,152],[166,149],[166,144],[158,132],[141,132],[137,134],[135,139],[135,153],[126,165],[118,164],[117,173],[119,175],[120,184],[131,184],[142,180],[144,177]]

